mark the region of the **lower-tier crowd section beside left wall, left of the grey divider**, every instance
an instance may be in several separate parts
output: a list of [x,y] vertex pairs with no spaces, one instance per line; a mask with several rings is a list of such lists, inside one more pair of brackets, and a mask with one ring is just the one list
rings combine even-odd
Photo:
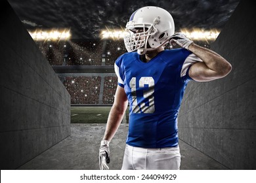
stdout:
[[72,104],[98,104],[100,76],[66,76],[62,80]]

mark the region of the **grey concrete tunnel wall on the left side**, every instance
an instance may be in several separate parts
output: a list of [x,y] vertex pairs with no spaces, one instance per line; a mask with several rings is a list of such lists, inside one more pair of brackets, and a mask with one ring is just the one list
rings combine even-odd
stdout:
[[0,12],[0,167],[16,169],[70,135],[70,95],[7,1]]

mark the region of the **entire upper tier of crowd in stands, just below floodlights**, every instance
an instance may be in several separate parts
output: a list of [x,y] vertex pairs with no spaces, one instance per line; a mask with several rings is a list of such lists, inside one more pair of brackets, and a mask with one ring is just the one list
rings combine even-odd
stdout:
[[[209,48],[209,42],[195,42]],[[50,65],[102,65],[102,59],[105,65],[114,65],[116,59],[127,52],[123,40],[72,39],[36,43]]]

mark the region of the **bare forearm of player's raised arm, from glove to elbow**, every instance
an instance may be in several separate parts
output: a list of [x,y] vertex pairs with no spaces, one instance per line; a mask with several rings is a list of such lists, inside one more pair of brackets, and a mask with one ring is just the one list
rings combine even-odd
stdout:
[[219,76],[227,75],[232,69],[231,64],[226,61],[226,59],[212,50],[203,48],[194,43],[188,46],[188,50],[198,56],[198,58],[202,59],[205,65],[207,65],[209,69],[215,71]]

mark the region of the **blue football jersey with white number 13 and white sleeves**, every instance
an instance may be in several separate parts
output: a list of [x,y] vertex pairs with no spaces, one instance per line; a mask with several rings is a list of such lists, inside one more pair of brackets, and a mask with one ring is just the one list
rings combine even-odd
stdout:
[[177,116],[193,61],[184,62],[190,54],[184,48],[164,50],[144,63],[137,52],[130,52],[116,60],[118,85],[130,105],[127,144],[142,148],[178,145]]

